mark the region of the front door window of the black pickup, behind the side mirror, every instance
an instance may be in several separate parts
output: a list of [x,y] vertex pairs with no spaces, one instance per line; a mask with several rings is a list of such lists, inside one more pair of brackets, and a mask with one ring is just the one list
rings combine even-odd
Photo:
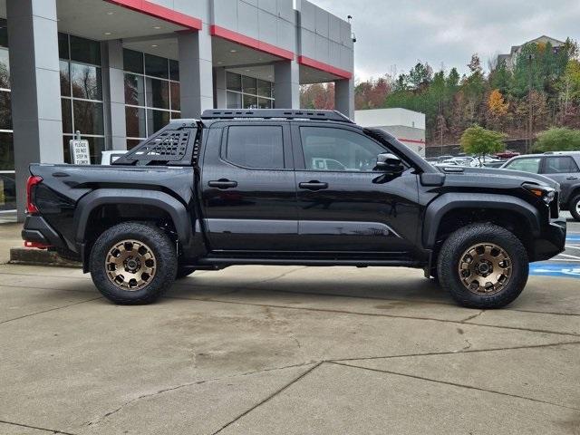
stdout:
[[301,127],[304,166],[311,170],[372,171],[377,156],[386,152],[379,144],[354,131]]

